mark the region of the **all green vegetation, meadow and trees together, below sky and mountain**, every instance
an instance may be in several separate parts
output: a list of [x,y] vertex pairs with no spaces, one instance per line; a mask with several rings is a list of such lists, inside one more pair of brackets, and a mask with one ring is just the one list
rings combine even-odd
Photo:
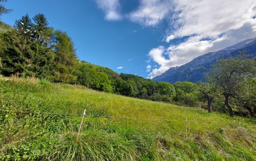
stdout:
[[0,160],[256,160],[255,120],[213,112],[256,116],[244,52],[218,59],[208,82],[172,85],[79,61],[42,13],[0,29]]

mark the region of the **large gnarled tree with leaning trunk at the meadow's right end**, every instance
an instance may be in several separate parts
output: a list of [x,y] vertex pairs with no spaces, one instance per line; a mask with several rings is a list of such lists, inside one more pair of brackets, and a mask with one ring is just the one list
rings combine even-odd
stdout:
[[217,64],[212,65],[213,69],[208,73],[208,80],[222,88],[225,105],[232,117],[234,112],[229,103],[230,97],[241,97],[241,93],[247,88],[245,84],[248,79],[256,74],[256,59],[248,57],[250,55],[241,52],[241,55],[235,58],[218,59]]

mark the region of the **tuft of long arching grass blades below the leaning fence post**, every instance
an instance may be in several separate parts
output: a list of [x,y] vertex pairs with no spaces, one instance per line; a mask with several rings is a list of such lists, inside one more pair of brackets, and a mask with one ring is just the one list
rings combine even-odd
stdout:
[[76,133],[65,133],[58,143],[49,147],[52,160],[137,160],[133,142],[118,135],[89,130],[76,138]]

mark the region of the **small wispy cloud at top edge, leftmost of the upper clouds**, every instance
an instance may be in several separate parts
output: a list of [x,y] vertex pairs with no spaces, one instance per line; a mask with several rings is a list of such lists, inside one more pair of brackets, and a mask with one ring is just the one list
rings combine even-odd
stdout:
[[98,7],[105,12],[105,19],[116,21],[122,19],[119,0],[95,0]]

